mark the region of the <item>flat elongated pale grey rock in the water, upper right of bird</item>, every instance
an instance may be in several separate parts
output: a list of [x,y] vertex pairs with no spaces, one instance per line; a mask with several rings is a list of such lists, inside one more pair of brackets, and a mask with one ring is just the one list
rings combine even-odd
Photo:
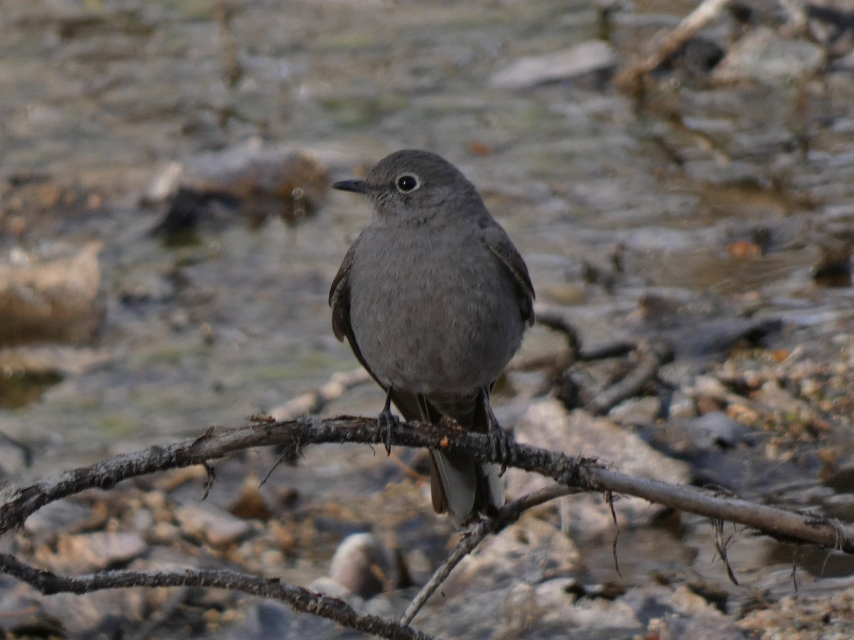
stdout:
[[532,55],[495,73],[489,84],[500,89],[524,89],[536,84],[576,78],[586,73],[609,71],[617,66],[617,52],[602,40],[576,44],[547,55]]

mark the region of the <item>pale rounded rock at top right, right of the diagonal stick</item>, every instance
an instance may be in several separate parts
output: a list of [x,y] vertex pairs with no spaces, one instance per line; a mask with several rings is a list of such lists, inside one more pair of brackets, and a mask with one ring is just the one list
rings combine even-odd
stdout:
[[760,27],[729,49],[711,77],[718,83],[748,80],[775,84],[802,79],[816,73],[824,63],[824,51],[816,44],[787,40],[767,27]]

